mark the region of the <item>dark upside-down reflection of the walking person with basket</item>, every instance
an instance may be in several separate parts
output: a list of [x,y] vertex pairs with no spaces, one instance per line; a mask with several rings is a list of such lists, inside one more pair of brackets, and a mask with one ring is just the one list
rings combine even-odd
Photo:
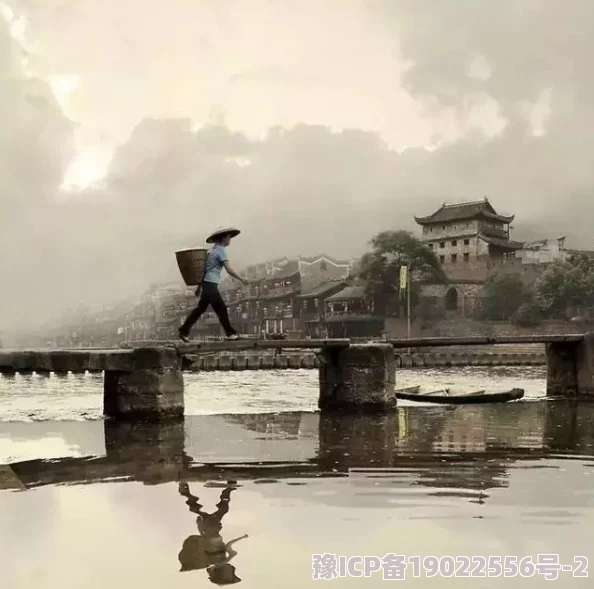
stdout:
[[237,555],[233,544],[247,538],[248,535],[244,534],[225,543],[220,533],[221,520],[229,511],[231,492],[236,488],[235,483],[227,483],[221,493],[217,510],[214,513],[206,513],[198,502],[198,497],[190,493],[188,484],[184,482],[179,484],[180,495],[186,498],[186,505],[190,511],[198,516],[196,524],[200,532],[199,535],[188,536],[182,546],[178,555],[182,572],[206,569],[211,582],[217,585],[231,585],[241,581],[235,574],[235,567],[229,563]]

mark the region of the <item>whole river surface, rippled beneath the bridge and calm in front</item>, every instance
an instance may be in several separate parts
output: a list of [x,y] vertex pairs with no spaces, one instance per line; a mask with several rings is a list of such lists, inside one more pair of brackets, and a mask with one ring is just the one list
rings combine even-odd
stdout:
[[183,423],[134,425],[99,377],[0,378],[0,587],[380,587],[399,557],[405,586],[590,587],[594,406],[540,368],[398,379],[527,396],[321,416],[315,371],[189,374]]

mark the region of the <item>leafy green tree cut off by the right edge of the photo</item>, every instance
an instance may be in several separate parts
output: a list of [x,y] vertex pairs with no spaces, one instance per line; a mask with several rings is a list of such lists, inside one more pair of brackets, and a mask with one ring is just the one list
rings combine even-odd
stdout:
[[554,318],[594,306],[594,258],[576,254],[551,262],[536,282],[536,299]]

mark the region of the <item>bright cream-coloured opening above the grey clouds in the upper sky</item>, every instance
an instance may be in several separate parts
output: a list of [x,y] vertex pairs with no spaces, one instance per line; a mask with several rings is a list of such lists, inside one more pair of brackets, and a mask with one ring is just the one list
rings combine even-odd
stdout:
[[[299,123],[364,129],[396,149],[455,137],[465,123],[500,123],[493,105],[477,104],[464,122],[451,112],[427,112],[402,87],[409,64],[393,27],[367,2],[149,6],[22,3],[34,67],[80,123],[67,184],[104,172],[113,146],[145,117],[223,123],[254,138]],[[469,73],[480,76],[481,65],[469,62]]]

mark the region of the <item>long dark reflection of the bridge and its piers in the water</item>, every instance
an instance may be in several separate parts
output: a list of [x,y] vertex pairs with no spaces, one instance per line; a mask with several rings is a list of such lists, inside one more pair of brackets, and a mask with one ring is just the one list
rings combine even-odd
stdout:
[[353,476],[362,470],[377,476],[396,469],[411,475],[410,486],[480,491],[484,500],[486,491],[508,484],[516,462],[591,456],[594,406],[405,407],[390,415],[208,416],[161,424],[106,422],[104,428],[104,456],[28,460],[10,468],[25,488]]

